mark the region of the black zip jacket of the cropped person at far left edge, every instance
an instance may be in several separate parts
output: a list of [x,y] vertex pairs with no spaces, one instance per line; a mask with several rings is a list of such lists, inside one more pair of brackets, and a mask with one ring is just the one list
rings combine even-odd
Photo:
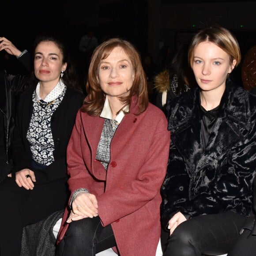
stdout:
[[[19,58],[19,61],[30,70],[30,56],[28,53]],[[10,173],[11,143],[15,120],[15,108],[18,95],[23,91],[26,84],[26,75],[11,75],[5,70],[0,71],[0,113],[4,120],[4,149],[6,154],[0,156],[0,182]]]

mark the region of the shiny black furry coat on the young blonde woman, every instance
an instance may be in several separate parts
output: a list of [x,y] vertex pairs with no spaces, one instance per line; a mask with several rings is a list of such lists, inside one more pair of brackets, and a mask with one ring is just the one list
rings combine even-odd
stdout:
[[229,210],[248,216],[251,211],[256,96],[227,83],[224,104],[203,150],[199,95],[199,88],[191,89],[167,104],[171,144],[162,185],[164,226],[178,211],[186,218]]

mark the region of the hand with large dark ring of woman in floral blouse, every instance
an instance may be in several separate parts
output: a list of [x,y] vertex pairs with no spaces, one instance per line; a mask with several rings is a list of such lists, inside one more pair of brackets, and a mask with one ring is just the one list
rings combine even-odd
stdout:
[[20,188],[23,187],[27,190],[32,190],[34,188],[33,182],[36,182],[36,177],[30,169],[22,169],[15,174],[15,181]]

